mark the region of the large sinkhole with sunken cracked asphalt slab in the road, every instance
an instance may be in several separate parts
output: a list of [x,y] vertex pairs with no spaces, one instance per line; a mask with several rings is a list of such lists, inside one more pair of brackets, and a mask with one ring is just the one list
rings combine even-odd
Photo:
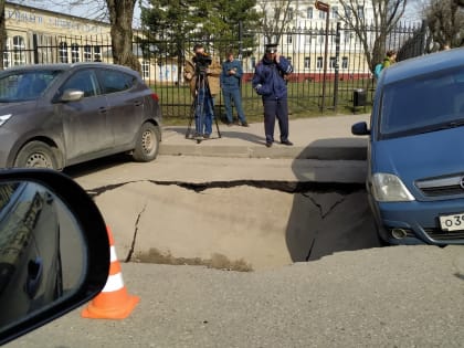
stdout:
[[127,262],[246,272],[380,246],[361,183],[145,181],[93,193],[106,207],[112,192],[134,207]]

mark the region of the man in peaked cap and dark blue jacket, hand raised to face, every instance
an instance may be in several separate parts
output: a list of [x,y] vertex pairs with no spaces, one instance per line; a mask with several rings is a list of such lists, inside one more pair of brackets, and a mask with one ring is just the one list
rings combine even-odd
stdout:
[[266,146],[274,143],[275,117],[281,129],[281,144],[293,145],[288,140],[288,105],[286,76],[292,73],[292,64],[277,52],[277,44],[266,44],[266,53],[256,64],[252,84],[263,98],[264,131]]

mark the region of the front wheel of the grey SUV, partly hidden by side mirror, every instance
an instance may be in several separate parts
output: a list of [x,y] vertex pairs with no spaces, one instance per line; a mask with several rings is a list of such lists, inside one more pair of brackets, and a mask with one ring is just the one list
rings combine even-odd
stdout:
[[24,145],[14,160],[14,167],[57,168],[52,149],[42,141],[31,141]]

